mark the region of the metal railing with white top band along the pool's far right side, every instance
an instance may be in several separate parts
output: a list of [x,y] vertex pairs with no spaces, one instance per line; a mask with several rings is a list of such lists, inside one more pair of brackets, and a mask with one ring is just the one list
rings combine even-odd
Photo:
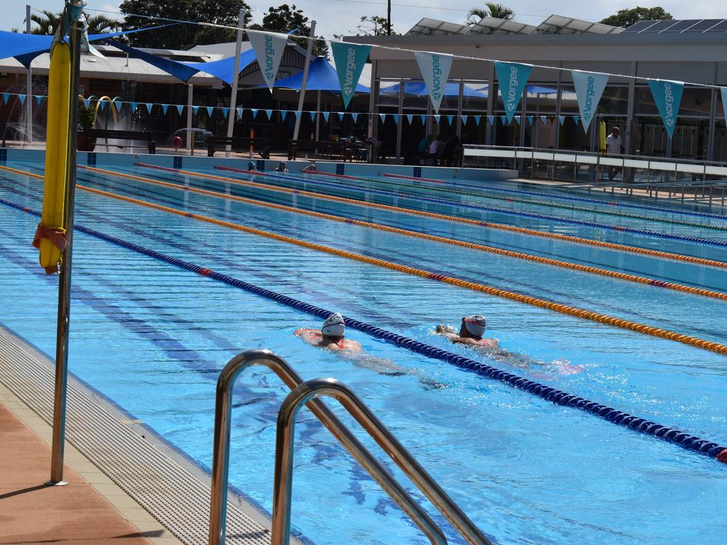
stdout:
[[[465,145],[464,166],[517,170],[520,177],[565,182],[566,189],[611,190],[658,199],[719,204],[727,196],[727,163],[685,158],[604,156],[574,150]],[[561,187],[561,186],[559,186]]]

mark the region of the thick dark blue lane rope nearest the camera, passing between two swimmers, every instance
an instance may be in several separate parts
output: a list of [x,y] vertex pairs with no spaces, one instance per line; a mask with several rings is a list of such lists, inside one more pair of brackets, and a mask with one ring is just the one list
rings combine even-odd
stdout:
[[[4,198],[0,198],[0,203],[5,206],[24,211],[28,214],[33,214],[34,216],[40,217],[41,215],[39,211],[33,210],[28,206],[22,206],[20,204],[13,203],[12,201],[7,201]],[[121,248],[136,251],[145,256],[158,259],[158,261],[169,263],[169,265],[180,267],[181,269],[188,270],[192,273],[197,273],[206,278],[212,278],[212,280],[217,280],[227,284],[228,286],[233,286],[251,294],[265,297],[265,299],[270,299],[271,301],[284,304],[286,307],[300,310],[318,318],[328,318],[332,314],[332,311],[330,310],[316,307],[313,304],[308,304],[283,294],[278,294],[275,291],[270,291],[268,289],[261,288],[260,286],[255,286],[254,284],[245,282],[244,280],[238,280],[237,278],[217,273],[214,270],[207,269],[205,267],[193,265],[193,263],[182,259],[161,254],[161,252],[145,248],[144,246],[139,246],[132,242],[124,241],[121,238],[106,235],[100,231],[89,229],[89,227],[75,225],[73,228],[74,230],[79,231],[79,233],[84,233],[102,241],[116,244],[116,246],[121,246]],[[662,426],[661,424],[656,424],[650,420],[639,418],[638,416],[633,416],[629,413],[624,413],[623,411],[618,411],[617,409],[608,407],[607,405],[601,405],[601,403],[587,400],[585,397],[578,397],[577,395],[562,392],[561,390],[545,386],[545,384],[539,384],[525,379],[522,376],[513,375],[506,371],[502,371],[501,369],[488,366],[485,363],[470,360],[470,358],[465,358],[464,356],[459,356],[452,352],[441,350],[441,348],[436,348],[429,344],[424,344],[422,342],[415,341],[414,339],[409,339],[408,337],[395,334],[391,331],[371,326],[370,324],[361,322],[360,320],[355,320],[353,318],[344,318],[344,320],[346,326],[356,329],[357,331],[361,331],[375,339],[382,339],[394,344],[395,346],[405,348],[406,350],[423,355],[427,358],[433,358],[435,360],[450,363],[455,367],[472,371],[473,373],[484,376],[487,379],[503,382],[532,395],[542,397],[542,399],[555,403],[555,405],[573,407],[580,409],[581,411],[585,411],[586,413],[600,416],[614,424],[619,424],[620,426],[633,429],[637,432],[657,437],[669,443],[675,443],[682,448],[686,448],[688,451],[701,453],[727,464],[727,447],[719,445],[718,443],[696,437],[696,435],[690,435],[686,432],[680,432],[678,429],[672,429],[670,427]]]

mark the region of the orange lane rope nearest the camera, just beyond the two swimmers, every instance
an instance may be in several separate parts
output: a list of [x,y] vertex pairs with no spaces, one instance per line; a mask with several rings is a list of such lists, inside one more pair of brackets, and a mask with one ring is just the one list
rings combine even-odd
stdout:
[[627,329],[629,331],[636,331],[638,333],[659,337],[661,339],[668,339],[670,341],[680,342],[687,344],[688,346],[702,348],[703,350],[710,350],[710,352],[716,352],[718,354],[727,354],[727,346],[718,342],[711,342],[698,337],[688,336],[685,334],[676,333],[675,331],[669,331],[667,329],[656,328],[654,326],[647,326],[643,323],[632,322],[630,320],[624,320],[622,318],[615,318],[613,316],[601,314],[600,312],[593,312],[591,310],[585,310],[578,307],[571,307],[566,304],[556,303],[553,301],[547,301],[547,299],[539,299],[537,297],[518,294],[513,291],[507,291],[500,288],[494,288],[492,286],[486,286],[485,284],[471,282],[470,280],[462,280],[462,278],[454,278],[448,275],[442,275],[439,273],[433,273],[428,270],[418,269],[416,267],[409,267],[408,265],[401,265],[398,263],[385,261],[385,259],[379,259],[377,257],[369,257],[362,254],[356,254],[353,251],[340,250],[333,248],[332,246],[325,246],[324,244],[318,244],[314,242],[304,241],[300,238],[293,238],[287,235],[280,235],[278,233],[270,233],[254,227],[248,227],[247,225],[241,225],[238,223],[227,222],[222,219],[213,217],[203,216],[201,214],[195,214],[194,212],[173,209],[169,206],[161,204],[150,203],[148,201],[142,201],[141,199],[126,197],[125,195],[118,195],[104,190],[99,190],[91,187],[85,187],[86,190],[91,190],[92,193],[99,195],[105,195],[111,198],[119,199],[120,201],[126,201],[129,203],[140,204],[148,208],[166,211],[171,214],[176,214],[182,217],[188,217],[190,219],[198,219],[203,222],[211,223],[213,225],[220,225],[222,227],[229,227],[230,229],[241,231],[242,233],[249,233],[252,235],[258,235],[265,238],[271,238],[275,241],[281,241],[295,246],[301,246],[311,250],[321,251],[326,254],[331,254],[337,257],[344,257],[346,259],[352,259],[354,261],[366,263],[367,265],[376,265],[385,269],[395,270],[399,273],[405,273],[419,278],[426,278],[427,280],[435,280],[437,282],[450,284],[451,286],[457,286],[459,288],[465,288],[472,291],[478,291],[483,294],[493,295],[502,299],[509,299],[523,304],[529,304],[532,307],[545,308],[553,312],[559,312],[564,315],[574,316],[575,318],[582,318],[583,320],[590,320],[596,323],[604,323],[608,326]]

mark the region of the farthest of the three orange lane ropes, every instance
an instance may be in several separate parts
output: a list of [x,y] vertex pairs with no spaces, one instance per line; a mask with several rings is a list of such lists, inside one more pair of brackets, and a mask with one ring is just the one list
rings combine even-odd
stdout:
[[[252,181],[244,180],[244,179],[230,178],[230,177],[225,177],[225,176],[216,176],[214,174],[204,174],[202,172],[171,169],[166,166],[156,166],[156,165],[149,165],[149,164],[145,164],[145,163],[136,163],[136,165],[143,166],[143,167],[149,168],[149,169],[158,169],[158,170],[163,170],[163,171],[169,171],[169,172],[173,172],[174,174],[182,174],[185,176],[214,179],[214,180],[217,180],[220,182],[232,182],[232,183],[236,183],[238,185],[244,185],[246,187],[260,187],[261,189],[277,191],[279,193],[304,195],[304,196],[313,197],[313,198],[321,198],[326,201],[334,201],[334,202],[339,202],[339,203],[352,204],[354,206],[363,206],[363,207],[375,208],[375,209],[379,209],[379,210],[394,211],[394,212],[398,212],[401,214],[409,214],[412,216],[421,216],[421,217],[429,217],[429,218],[433,218],[433,219],[441,219],[441,220],[449,221],[449,222],[463,223],[463,224],[467,224],[467,225],[475,225],[476,227],[485,227],[485,228],[495,229],[495,230],[510,231],[512,233],[518,233],[521,235],[531,235],[531,236],[537,236],[537,237],[542,237],[542,238],[553,238],[558,241],[585,244],[587,246],[599,246],[601,248],[607,248],[607,249],[611,249],[611,250],[626,251],[626,252],[629,252],[632,254],[643,254],[643,255],[647,255],[649,257],[672,259],[675,261],[683,261],[683,262],[689,262],[689,263],[696,263],[699,265],[707,265],[709,267],[727,268],[727,262],[717,261],[715,259],[705,259],[704,257],[694,257],[694,256],[686,256],[683,254],[674,254],[669,251],[651,250],[651,249],[646,249],[646,248],[639,248],[638,246],[628,246],[627,244],[619,244],[619,243],[605,242],[605,241],[594,241],[590,238],[581,238],[581,237],[576,237],[576,236],[572,236],[572,235],[561,235],[560,233],[547,233],[546,231],[527,229],[526,227],[515,227],[513,225],[504,225],[504,224],[500,224],[500,223],[483,222],[478,219],[469,219],[469,218],[464,218],[464,217],[459,217],[459,216],[449,216],[447,214],[438,214],[436,212],[403,208],[401,206],[392,206],[390,204],[371,203],[369,201],[360,201],[358,199],[353,199],[353,198],[338,197],[336,195],[328,195],[327,193],[316,193],[314,191],[297,190],[297,189],[292,189],[290,187],[262,184],[259,182],[252,182]],[[3,167],[0,166],[0,169],[1,168],[3,168]],[[101,172],[104,174],[118,174],[115,171],[94,169],[89,166],[84,166],[81,168]],[[241,169],[231,169],[231,170],[236,171],[236,172],[241,172],[243,174],[253,174],[255,176],[269,176],[269,174],[264,174],[264,173],[258,172],[258,171],[246,171],[246,170],[241,170]],[[21,174],[23,173],[23,171],[19,171],[19,172]],[[133,174],[129,174],[129,176],[133,176]],[[286,179],[286,177],[281,177],[281,178]],[[305,180],[303,180],[303,181],[305,181]]]

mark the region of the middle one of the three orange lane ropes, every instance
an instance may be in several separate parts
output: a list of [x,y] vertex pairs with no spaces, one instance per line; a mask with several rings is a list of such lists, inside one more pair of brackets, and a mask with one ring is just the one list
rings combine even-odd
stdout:
[[[89,169],[89,170],[100,171],[100,169]],[[111,171],[104,171],[103,173],[110,174]],[[135,179],[135,180],[138,180],[141,182],[150,183],[153,185],[171,187],[175,190],[190,191],[193,193],[199,193],[201,195],[212,196],[214,198],[225,198],[230,201],[252,204],[253,206],[262,206],[265,208],[292,212],[294,214],[304,214],[306,216],[318,217],[321,219],[330,219],[330,220],[336,221],[336,222],[348,223],[349,225],[359,225],[361,227],[369,227],[371,229],[382,230],[382,231],[386,231],[387,233],[396,233],[398,235],[411,236],[414,238],[422,238],[427,241],[434,241],[434,242],[439,242],[439,243],[450,244],[451,246],[460,246],[462,248],[467,248],[467,249],[486,251],[491,254],[498,254],[498,255],[503,255],[503,256],[507,256],[507,257],[514,257],[516,259],[526,259],[527,261],[537,262],[537,263],[541,263],[544,265],[553,265],[555,267],[563,267],[563,268],[567,268],[567,269],[571,269],[571,270],[577,270],[582,273],[591,273],[591,274],[595,274],[595,275],[606,276],[608,278],[617,278],[619,280],[627,280],[629,282],[640,283],[640,284],[644,284],[646,286],[656,286],[657,288],[665,288],[665,289],[671,289],[674,291],[682,291],[682,292],[688,293],[688,294],[699,295],[699,296],[704,296],[704,297],[711,297],[712,299],[721,299],[723,301],[727,301],[727,294],[723,293],[721,291],[715,291],[715,290],[704,289],[704,288],[696,288],[694,286],[686,286],[686,285],[679,284],[679,283],[667,282],[664,280],[656,280],[655,278],[646,278],[646,277],[638,276],[638,275],[619,273],[614,270],[602,269],[600,267],[590,267],[589,265],[580,265],[578,263],[561,261],[560,259],[552,259],[550,257],[542,257],[542,256],[536,256],[536,255],[532,255],[532,254],[525,254],[525,253],[519,252],[519,251],[512,251],[512,250],[497,248],[495,246],[485,246],[483,244],[478,244],[478,243],[459,241],[455,238],[446,238],[446,237],[442,237],[442,236],[438,236],[438,235],[430,235],[428,233],[419,233],[417,231],[401,229],[400,227],[390,227],[388,225],[381,225],[381,224],[374,223],[374,222],[364,222],[360,219],[352,219],[352,218],[348,218],[348,217],[335,216],[334,214],[325,214],[324,212],[316,212],[316,211],[298,209],[298,208],[294,208],[292,206],[285,206],[283,204],[268,203],[265,201],[258,201],[257,199],[239,197],[237,195],[228,195],[226,193],[219,193],[217,191],[199,189],[197,187],[184,187],[182,185],[171,183],[171,182],[163,182],[161,180],[134,176],[133,174],[114,173],[113,175],[118,176],[118,177],[131,178],[131,179]],[[82,189],[82,190],[90,191],[92,193],[98,193],[100,195],[107,195],[107,196],[116,195],[115,193],[108,193],[104,190],[98,190],[98,189],[95,189],[92,187],[86,187],[83,185],[77,185],[76,187],[79,187],[79,189]]]

